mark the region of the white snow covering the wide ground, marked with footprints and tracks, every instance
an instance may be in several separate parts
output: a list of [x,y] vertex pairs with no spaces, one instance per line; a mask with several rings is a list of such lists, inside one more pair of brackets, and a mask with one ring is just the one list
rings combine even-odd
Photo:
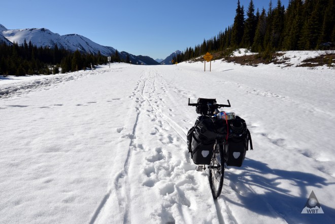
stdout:
[[[1,222],[332,223],[334,82],[220,60],[2,78]],[[187,152],[198,97],[229,99],[255,149],[217,201]],[[301,214],[312,191],[324,214]]]

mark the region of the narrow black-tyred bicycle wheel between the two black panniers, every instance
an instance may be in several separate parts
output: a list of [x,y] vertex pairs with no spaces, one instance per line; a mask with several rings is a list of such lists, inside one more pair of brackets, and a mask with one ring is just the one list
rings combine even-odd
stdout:
[[224,177],[223,144],[215,143],[211,165],[209,166],[209,182],[214,199],[217,199],[221,194],[223,177]]

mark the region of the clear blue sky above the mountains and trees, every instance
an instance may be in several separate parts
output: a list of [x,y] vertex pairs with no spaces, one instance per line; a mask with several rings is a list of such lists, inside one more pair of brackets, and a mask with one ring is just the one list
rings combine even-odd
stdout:
[[[254,0],[255,10],[270,0]],[[285,8],[288,0],[282,0]],[[245,13],[250,0],[240,0]],[[274,7],[277,0],[273,0]],[[233,23],[237,0],[3,1],[0,24],[8,29],[47,28],[77,33],[104,46],[153,59],[184,51]]]

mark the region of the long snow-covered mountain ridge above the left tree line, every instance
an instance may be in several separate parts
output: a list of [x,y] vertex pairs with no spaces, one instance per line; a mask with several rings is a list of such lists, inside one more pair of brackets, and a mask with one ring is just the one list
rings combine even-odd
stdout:
[[[26,43],[31,41],[32,45],[36,45],[38,47],[54,48],[55,45],[57,45],[58,48],[64,48],[70,51],[79,50],[83,53],[97,54],[100,51],[102,55],[106,56],[114,55],[116,51],[113,47],[99,45],[79,34],[59,35],[58,33],[54,33],[46,28],[9,30],[0,24],[0,43],[6,42],[7,44],[11,44],[15,42],[21,45],[24,41],[26,41]],[[138,56],[131,55],[127,52],[122,52],[119,56],[121,59],[125,60],[127,54],[132,62],[139,62],[140,64],[143,62]],[[154,59],[148,61],[153,62],[143,62],[143,64],[156,64]]]

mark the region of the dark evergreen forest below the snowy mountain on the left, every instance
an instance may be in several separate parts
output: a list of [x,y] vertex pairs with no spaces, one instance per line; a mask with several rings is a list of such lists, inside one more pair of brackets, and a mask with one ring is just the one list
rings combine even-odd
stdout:
[[[18,45],[0,44],[0,74],[9,76],[24,76],[26,74],[56,74],[78,71],[98,64],[106,64],[107,57],[100,52],[96,55],[71,52],[54,48],[37,47],[31,42]],[[118,51],[111,55],[111,62],[120,62]]]

